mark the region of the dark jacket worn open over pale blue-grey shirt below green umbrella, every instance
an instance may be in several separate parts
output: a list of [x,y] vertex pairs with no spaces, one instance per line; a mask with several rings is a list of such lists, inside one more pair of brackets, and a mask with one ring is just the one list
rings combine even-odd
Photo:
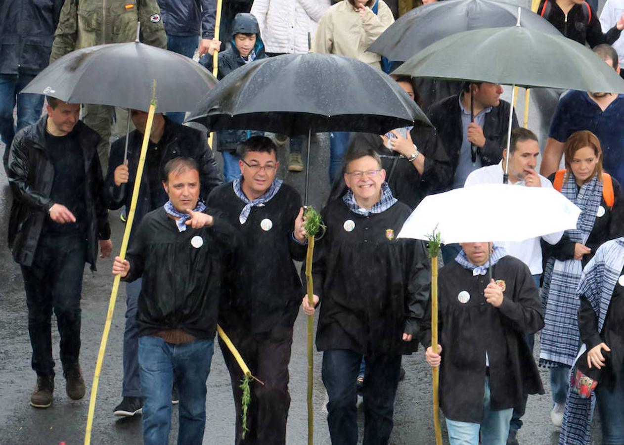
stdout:
[[[492,110],[485,114],[483,125],[485,145],[479,149],[479,156],[484,167],[485,165],[498,164],[502,159],[502,150],[507,145],[507,123],[509,122],[510,106],[509,102],[501,99],[498,107],[492,107]],[[457,171],[459,151],[462,147],[461,113],[459,94],[442,99],[429,108],[429,120],[436,127],[437,135],[442,140],[444,150],[451,160],[451,178],[449,178],[451,183]],[[512,128],[518,126],[515,111],[511,126]]]

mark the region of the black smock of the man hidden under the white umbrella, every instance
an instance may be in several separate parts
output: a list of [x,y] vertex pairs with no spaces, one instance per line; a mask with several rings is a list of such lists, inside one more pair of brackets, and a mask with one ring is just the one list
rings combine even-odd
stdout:
[[[446,418],[481,423],[485,374],[490,376],[490,409],[523,406],[523,394],[544,394],[537,365],[525,335],[544,327],[542,303],[529,268],[507,255],[492,267],[495,281],[504,280],[499,308],[485,301],[488,275],[472,275],[456,262],[440,270],[439,343],[440,404]],[[467,291],[467,303],[459,293]],[[431,346],[431,305],[423,323],[421,343]],[[485,366],[485,353],[489,369]]]

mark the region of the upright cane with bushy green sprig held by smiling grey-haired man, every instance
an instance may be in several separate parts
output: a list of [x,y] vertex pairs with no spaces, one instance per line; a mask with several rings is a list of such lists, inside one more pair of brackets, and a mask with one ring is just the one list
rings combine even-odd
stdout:
[[[308,150],[310,150],[308,148]],[[306,281],[308,284],[308,303],[314,305],[314,286],[312,283],[312,258],[314,255],[314,237],[323,226],[321,215],[311,205],[306,206],[306,222],[308,235],[308,252],[306,254]],[[312,389],[314,385],[314,351],[313,351],[314,316],[308,315],[308,445],[314,444],[314,408],[312,406]]]

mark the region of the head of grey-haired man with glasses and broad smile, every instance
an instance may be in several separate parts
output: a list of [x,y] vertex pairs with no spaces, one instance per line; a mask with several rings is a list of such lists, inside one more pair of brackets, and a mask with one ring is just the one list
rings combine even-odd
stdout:
[[386,170],[372,156],[354,159],[346,166],[344,183],[351,189],[356,202],[370,208],[381,198],[381,184],[386,180]]

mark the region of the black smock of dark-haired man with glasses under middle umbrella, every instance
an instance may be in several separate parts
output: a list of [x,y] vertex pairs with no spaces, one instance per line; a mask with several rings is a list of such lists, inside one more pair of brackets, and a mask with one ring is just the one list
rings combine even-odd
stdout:
[[[232,183],[215,188],[208,207],[222,212],[242,240],[235,266],[228,270],[229,295],[222,302],[219,323],[224,328],[244,326],[250,333],[293,326],[305,295],[293,260],[303,261],[307,251],[293,238],[301,208],[299,193],[283,183],[265,205],[251,207],[242,225],[238,217],[245,202],[236,196]],[[260,227],[265,219],[272,223],[270,230]]]

